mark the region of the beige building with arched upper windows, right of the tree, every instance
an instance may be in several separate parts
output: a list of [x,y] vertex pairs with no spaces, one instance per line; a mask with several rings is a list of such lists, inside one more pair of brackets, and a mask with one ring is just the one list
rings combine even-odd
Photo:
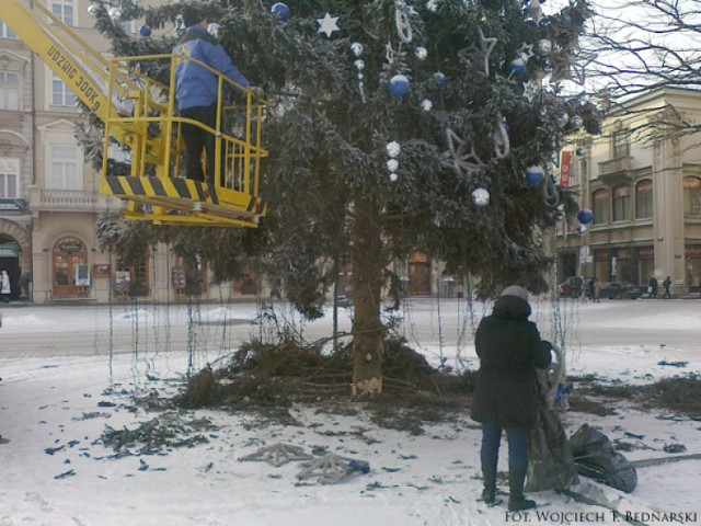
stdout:
[[[559,281],[598,277],[647,286],[669,276],[673,294],[701,282],[701,92],[663,89],[607,113],[597,137],[574,137],[561,183],[594,220],[558,227]],[[582,228],[584,227],[584,228]]]

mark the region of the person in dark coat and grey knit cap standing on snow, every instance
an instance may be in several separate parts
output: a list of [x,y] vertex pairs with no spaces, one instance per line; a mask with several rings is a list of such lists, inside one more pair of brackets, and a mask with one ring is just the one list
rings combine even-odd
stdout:
[[480,370],[471,418],[482,424],[482,499],[496,503],[498,449],[505,430],[512,511],[536,507],[536,502],[524,496],[524,481],[538,411],[536,367],[544,369],[551,362],[552,345],[541,340],[536,323],[528,320],[530,313],[528,291],[508,286],[494,302],[492,315],[480,322],[474,339]]

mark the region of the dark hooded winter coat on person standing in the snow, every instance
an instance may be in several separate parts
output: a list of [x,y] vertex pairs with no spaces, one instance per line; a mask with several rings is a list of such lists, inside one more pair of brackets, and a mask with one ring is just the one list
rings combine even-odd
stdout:
[[550,365],[548,342],[528,321],[530,305],[501,296],[492,316],[482,320],[474,340],[480,371],[472,400],[472,419],[502,427],[536,425],[536,367]]

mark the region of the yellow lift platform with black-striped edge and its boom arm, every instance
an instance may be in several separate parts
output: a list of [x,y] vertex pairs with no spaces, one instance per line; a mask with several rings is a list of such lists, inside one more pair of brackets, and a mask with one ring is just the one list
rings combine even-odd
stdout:
[[[175,67],[186,58],[151,55],[105,59],[37,0],[5,0],[2,20],[105,125],[100,192],[124,201],[124,217],[156,225],[258,226],[265,101],[219,72],[215,128],[177,115]],[[170,71],[162,84],[142,71]],[[231,101],[225,104],[222,101]],[[184,179],[183,123],[215,136],[215,184]],[[113,141],[116,145],[113,145]],[[128,175],[110,173],[118,147]],[[206,159],[203,158],[203,163]]]

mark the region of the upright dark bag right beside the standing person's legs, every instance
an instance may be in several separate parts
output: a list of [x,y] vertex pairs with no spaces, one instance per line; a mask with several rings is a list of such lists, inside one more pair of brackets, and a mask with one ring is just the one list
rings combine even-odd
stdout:
[[529,492],[561,490],[578,482],[577,468],[560,416],[541,399],[536,427],[530,432],[528,479],[524,489]]

